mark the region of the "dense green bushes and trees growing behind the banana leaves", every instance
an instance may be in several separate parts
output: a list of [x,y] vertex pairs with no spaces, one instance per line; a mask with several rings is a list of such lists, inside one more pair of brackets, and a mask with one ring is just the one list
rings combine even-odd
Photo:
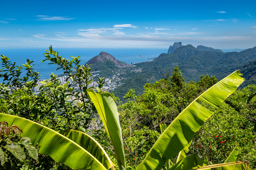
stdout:
[[[2,96],[0,106],[1,113],[4,113],[6,118],[10,117],[11,115],[16,115],[31,120],[30,123],[37,122],[36,124],[41,124],[40,127],[42,128],[46,126],[52,129],[49,129],[49,132],[53,133],[54,135],[58,134],[56,131],[62,130],[60,135],[63,134],[64,136],[70,138],[70,143],[72,143],[73,139],[72,134],[67,133],[66,131],[63,133],[63,130],[78,130],[87,133],[98,141],[96,144],[94,143],[94,145],[89,147],[87,146],[87,148],[91,150],[90,148],[92,148],[92,146],[98,146],[94,148],[99,149],[102,146],[103,149],[100,148],[100,150],[102,150],[102,152],[105,151],[106,153],[105,154],[103,152],[102,155],[108,155],[105,157],[105,160],[110,158],[114,164],[119,165],[120,169],[125,168],[125,165],[123,165],[123,160],[120,162],[120,155],[124,156],[124,158],[122,158],[124,161],[126,160],[126,169],[135,169],[139,163],[143,164],[143,160],[148,158],[146,154],[151,150],[152,146],[154,146],[154,143],[157,143],[157,139],[158,141],[161,141],[159,138],[161,133],[160,125],[163,123],[166,125],[172,124],[174,119],[178,115],[181,115],[181,112],[184,113],[184,110],[186,110],[185,108],[191,102],[195,103],[194,100],[197,97],[199,97],[209,87],[212,87],[217,83],[217,79],[215,79],[215,77],[209,77],[208,75],[205,77],[201,76],[201,80],[196,83],[193,81],[185,83],[178,67],[176,67],[171,75],[167,72],[163,79],[153,84],[146,84],[144,86],[145,93],[143,95],[136,96],[134,91],[130,90],[124,96],[127,101],[126,103],[120,105],[118,110],[112,110],[111,113],[105,114],[112,115],[113,113],[113,115],[118,116],[119,112],[119,117],[117,117],[117,119],[120,120],[119,126],[121,129],[121,136],[119,134],[118,138],[121,139],[120,142],[123,143],[123,151],[117,153],[115,145],[112,144],[114,138],[111,133],[113,132],[108,130],[110,128],[106,128],[107,126],[104,124],[104,122],[101,122],[101,113],[97,112],[99,106],[93,104],[95,102],[93,102],[91,96],[89,97],[87,91],[90,90],[86,86],[86,84],[88,84],[86,80],[88,80],[90,77],[90,68],[88,66],[80,66],[80,61],[78,60],[79,57],[73,57],[73,59],[70,61],[63,59],[61,56],[58,56],[58,53],[52,51],[52,49],[50,49],[48,53],[54,54],[54,57],[50,57],[48,56],[49,54],[46,53],[47,59],[55,64],[58,64],[59,68],[63,69],[67,73],[73,69],[76,70],[77,74],[69,73],[70,78],[79,84],[81,91],[84,93],[81,93],[80,97],[79,95],[76,96],[72,87],[68,85],[60,86],[58,81],[55,79],[56,76],[52,74],[51,79],[44,82],[45,86],[42,87],[41,93],[35,95],[33,93],[33,88],[36,86],[35,83],[39,78],[39,73],[31,68],[32,62],[28,60],[28,63],[23,65],[28,73],[27,76],[20,77],[22,67],[15,68],[14,64],[9,63],[7,57],[2,56],[2,64],[4,66],[4,70],[1,70],[3,71],[1,77],[4,77],[7,83],[1,84],[0,88]],[[73,67],[72,64],[74,64],[75,67]],[[99,84],[103,83],[104,82],[102,82],[101,79]],[[95,90],[99,93],[98,95],[107,95],[101,94],[102,92],[99,88]],[[194,138],[193,136],[189,137],[192,141],[188,147],[188,155],[193,155],[195,153],[199,156],[200,159],[208,158],[210,164],[217,164],[223,163],[230,155],[230,152],[232,152],[234,148],[237,147],[237,160],[249,160],[252,164],[252,167],[256,166],[254,161],[256,149],[255,132],[253,130],[255,122],[255,99],[252,99],[250,104],[243,102],[243,98],[250,94],[250,90],[255,91],[255,85],[250,85],[243,90],[236,91],[225,101],[225,103],[218,106],[218,110],[215,109],[216,106],[213,106],[206,101],[200,102],[201,106],[204,106],[205,108],[209,109],[210,111],[214,111],[215,113],[213,116],[209,116],[209,119],[207,119],[207,117],[204,118],[206,121],[203,121],[204,123],[202,122],[202,127],[199,126],[198,131],[196,130],[197,132],[195,131],[196,133]],[[219,91],[215,92],[215,97],[216,95],[222,95]],[[80,105],[78,104],[77,106],[74,106],[71,103],[66,102],[65,99],[69,95],[77,97],[77,99],[80,99],[82,103]],[[119,103],[118,98],[113,96],[113,99]],[[1,116],[2,115],[3,114],[1,114]],[[3,116],[1,117],[1,121],[2,118]],[[202,117],[199,116],[197,118],[201,119]],[[17,123],[20,122],[23,122],[23,120],[18,119]],[[105,126],[102,126],[102,124]],[[110,123],[108,124],[110,125]],[[172,125],[169,127],[171,126]],[[87,130],[88,127],[90,130]],[[25,133],[27,130],[28,129],[23,129],[23,132]],[[31,131],[31,129],[29,130]],[[186,134],[185,131],[177,131],[177,133],[182,133],[183,135]],[[31,134],[27,133],[26,135]],[[89,135],[84,135],[93,141],[93,138],[88,137]],[[67,141],[64,136],[61,137],[63,140],[60,141]],[[34,140],[32,137],[33,134],[30,137],[31,141]],[[173,138],[170,138],[169,140],[172,139]],[[55,145],[55,148],[60,148],[58,152],[51,152],[50,154],[47,153],[52,158],[47,156],[46,153],[41,152],[44,149],[39,149],[39,155],[36,161],[30,158],[26,158],[26,161],[19,162],[19,166],[13,166],[12,168],[19,169],[23,166],[26,168],[34,169],[69,169],[69,167],[65,165],[67,162],[54,161],[54,159],[56,160],[55,156],[60,155],[60,150],[68,149],[67,147],[63,147],[61,145],[62,142],[56,142],[58,145]],[[86,148],[86,146],[82,146],[79,141],[77,143],[76,141],[73,142],[75,143],[70,145],[79,148],[81,150],[80,153],[83,151],[82,148]],[[166,142],[166,140],[164,140],[164,142]],[[187,144],[189,142],[190,141],[187,141]],[[98,143],[100,143],[101,146],[98,145]],[[170,142],[170,144],[171,143],[173,144],[173,142]],[[182,150],[187,145],[185,145],[185,143],[179,145],[178,148],[181,148],[180,150]],[[41,147],[43,144],[44,143],[41,143]],[[77,144],[80,146],[77,146]],[[34,143],[34,145],[36,145],[36,143]],[[52,148],[52,150],[54,149]],[[177,147],[174,148],[174,150],[176,151],[173,153],[176,154],[170,158],[170,162],[175,162],[178,160],[178,153],[180,150],[177,149]],[[165,150],[163,149],[162,151],[164,152]],[[162,151],[159,150],[158,152]],[[93,155],[92,151],[87,150],[87,152],[83,151],[83,154]],[[70,151],[69,153],[73,152]],[[65,156],[63,156],[63,159],[64,158]],[[191,157],[186,157],[186,159],[189,158]],[[105,168],[110,168],[113,165],[111,161],[105,161],[109,162],[109,164],[106,163],[103,165],[103,159],[103,162],[98,163],[98,165],[103,165]],[[182,160],[179,161],[182,162]],[[178,163],[179,161],[176,162]],[[78,160],[78,162],[83,163],[81,160]],[[78,162],[77,160],[72,159],[72,161],[69,163],[75,164]],[[164,164],[162,166],[169,166]],[[160,166],[161,163],[158,165]],[[162,166],[158,169],[161,169]],[[196,166],[196,164],[194,164],[194,166]],[[92,167],[87,168],[93,169]],[[99,167],[97,168],[99,169]],[[118,169],[118,167],[115,168]]]

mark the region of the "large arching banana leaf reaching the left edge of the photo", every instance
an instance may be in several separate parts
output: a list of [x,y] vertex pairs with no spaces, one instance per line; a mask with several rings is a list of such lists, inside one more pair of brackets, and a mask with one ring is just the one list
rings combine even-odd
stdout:
[[0,113],[0,122],[3,121],[22,129],[21,136],[29,137],[31,143],[39,147],[38,153],[49,155],[56,162],[72,169],[106,170],[87,150],[52,129],[22,117]]

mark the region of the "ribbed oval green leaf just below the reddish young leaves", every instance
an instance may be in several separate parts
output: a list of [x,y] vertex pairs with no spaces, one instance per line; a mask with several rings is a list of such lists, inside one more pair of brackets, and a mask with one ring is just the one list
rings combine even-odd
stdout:
[[24,162],[26,155],[24,149],[20,147],[17,143],[11,143],[10,145],[5,145],[4,148],[10,151],[20,162]]

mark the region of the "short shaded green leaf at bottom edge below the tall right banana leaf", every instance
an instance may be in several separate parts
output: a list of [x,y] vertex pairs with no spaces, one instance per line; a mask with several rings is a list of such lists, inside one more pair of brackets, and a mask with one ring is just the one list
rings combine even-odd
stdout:
[[203,164],[204,161],[194,153],[181,159],[168,170],[189,170],[197,166],[201,167]]

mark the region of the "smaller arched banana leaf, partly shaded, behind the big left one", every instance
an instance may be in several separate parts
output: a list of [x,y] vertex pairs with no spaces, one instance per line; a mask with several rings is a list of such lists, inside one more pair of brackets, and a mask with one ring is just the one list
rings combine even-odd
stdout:
[[73,142],[76,142],[83,149],[87,150],[92,156],[94,156],[98,161],[100,161],[104,167],[109,169],[110,167],[114,169],[114,164],[110,160],[108,154],[101,147],[101,145],[93,139],[91,136],[80,132],[78,130],[59,130],[57,131],[63,136],[66,136]]

